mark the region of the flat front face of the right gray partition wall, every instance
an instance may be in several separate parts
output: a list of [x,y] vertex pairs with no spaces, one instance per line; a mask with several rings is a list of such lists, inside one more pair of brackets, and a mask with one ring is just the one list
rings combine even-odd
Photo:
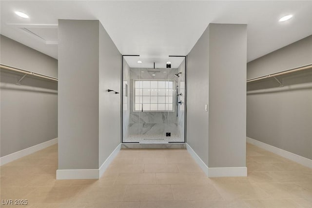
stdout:
[[209,167],[246,166],[247,25],[209,26]]

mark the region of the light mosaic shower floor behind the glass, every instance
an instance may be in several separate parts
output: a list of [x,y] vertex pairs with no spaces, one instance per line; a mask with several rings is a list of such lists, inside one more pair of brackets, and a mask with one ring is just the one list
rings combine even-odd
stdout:
[[163,134],[130,134],[124,138],[123,142],[139,142],[139,143],[169,143],[169,142],[184,142],[179,135],[171,134],[166,137]]

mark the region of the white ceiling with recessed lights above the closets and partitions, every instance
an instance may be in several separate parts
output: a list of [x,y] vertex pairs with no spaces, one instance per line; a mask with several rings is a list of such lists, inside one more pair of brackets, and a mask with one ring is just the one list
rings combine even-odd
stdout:
[[[187,55],[209,23],[248,24],[248,61],[312,35],[312,1],[1,0],[0,4],[1,34],[54,58],[58,57],[55,30],[49,34],[38,28],[53,28],[58,19],[99,20],[121,54],[138,54],[146,61]],[[30,18],[22,19],[14,11]],[[278,22],[287,14],[293,18]],[[20,27],[37,28],[32,31],[45,41]]]

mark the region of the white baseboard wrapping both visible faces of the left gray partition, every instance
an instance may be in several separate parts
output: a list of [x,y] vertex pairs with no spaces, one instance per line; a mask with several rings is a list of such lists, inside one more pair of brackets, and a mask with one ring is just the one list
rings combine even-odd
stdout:
[[119,144],[114,151],[108,156],[104,163],[98,169],[58,169],[57,180],[63,179],[99,179],[109,164],[117,156],[121,144]]

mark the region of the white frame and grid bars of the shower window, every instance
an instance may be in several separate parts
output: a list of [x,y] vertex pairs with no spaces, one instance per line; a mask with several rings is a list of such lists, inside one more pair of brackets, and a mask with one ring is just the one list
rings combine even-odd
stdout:
[[[162,81],[162,82],[172,82],[172,110],[143,110],[143,112],[175,112],[175,81],[174,80],[156,80],[156,79],[134,79],[133,80],[133,112],[142,112],[142,110],[136,110],[136,81]],[[144,89],[144,88],[139,88],[139,89]],[[145,89],[148,89],[148,88],[145,88]],[[156,88],[150,88],[149,89],[156,89]],[[158,89],[169,89],[169,88],[158,88],[157,86],[157,90]],[[170,88],[171,89],[171,88]],[[138,95],[138,96],[142,96],[143,95]],[[151,99],[151,95],[149,96],[150,99]],[[156,97],[156,96],[155,96]],[[169,104],[169,103],[166,103],[166,95],[164,96],[158,96],[157,94],[157,104],[158,103],[158,97],[165,97],[165,103],[160,103],[160,104]],[[167,97],[170,97],[170,96],[167,96]],[[143,101],[142,101],[143,102]],[[144,103],[142,103],[144,104]],[[151,104],[151,100],[150,100],[150,103],[147,103],[147,104]],[[152,103],[153,104],[153,103]],[[171,103],[170,103],[171,104]]]

